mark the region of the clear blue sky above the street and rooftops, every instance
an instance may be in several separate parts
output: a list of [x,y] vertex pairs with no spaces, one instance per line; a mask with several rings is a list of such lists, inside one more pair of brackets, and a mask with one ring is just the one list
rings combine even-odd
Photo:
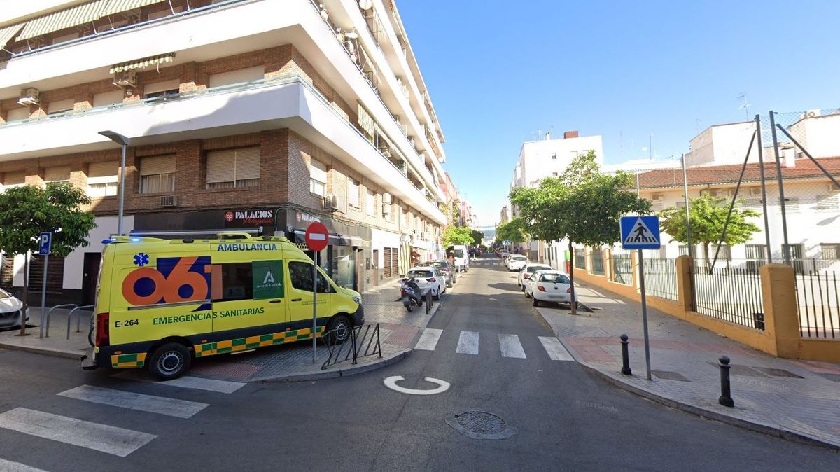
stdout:
[[[523,140],[601,134],[607,163],[699,131],[840,107],[840,2],[402,0],[446,135],[446,170],[492,224]],[[623,150],[623,152],[622,152]]]

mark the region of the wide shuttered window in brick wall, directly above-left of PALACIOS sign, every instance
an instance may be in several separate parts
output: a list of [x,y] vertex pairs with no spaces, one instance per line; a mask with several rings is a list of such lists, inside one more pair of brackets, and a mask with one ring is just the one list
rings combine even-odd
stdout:
[[207,189],[260,185],[260,147],[207,152]]

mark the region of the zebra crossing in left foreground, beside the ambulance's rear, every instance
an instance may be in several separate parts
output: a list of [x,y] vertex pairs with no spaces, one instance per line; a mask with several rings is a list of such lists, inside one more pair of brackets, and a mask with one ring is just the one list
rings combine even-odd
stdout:
[[[150,382],[155,385],[165,386],[166,388],[178,387],[181,389],[212,391],[223,395],[230,395],[246,385],[242,382],[204,379],[192,376],[183,376],[176,380],[160,381],[153,379],[148,373],[140,370],[123,370],[111,377],[119,380]],[[116,386],[123,387],[123,385]],[[131,384],[126,382],[125,386],[130,387]],[[201,401],[181,400],[170,396],[148,395],[123,390],[122,388],[105,388],[96,385],[79,385],[70,390],[61,391],[56,395],[75,401],[84,401],[138,412],[148,412],[179,419],[191,418],[197,415],[197,413],[202,412],[207,406],[210,406],[210,404]],[[157,438],[157,435],[151,433],[89,422],[50,412],[40,412],[24,407],[0,412],[0,429],[50,439],[59,443],[72,444],[81,448],[113,454],[118,457],[126,457]],[[0,470],[39,469],[0,458]]]

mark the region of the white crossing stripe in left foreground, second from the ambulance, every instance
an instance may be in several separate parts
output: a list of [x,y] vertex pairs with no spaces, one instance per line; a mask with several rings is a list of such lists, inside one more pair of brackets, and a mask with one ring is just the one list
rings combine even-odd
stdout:
[[198,401],[178,400],[165,396],[151,396],[130,391],[113,390],[92,385],[81,385],[68,391],[62,391],[60,396],[75,398],[81,401],[101,403],[102,405],[129,408],[140,412],[158,413],[169,417],[189,418],[206,408],[207,403]]

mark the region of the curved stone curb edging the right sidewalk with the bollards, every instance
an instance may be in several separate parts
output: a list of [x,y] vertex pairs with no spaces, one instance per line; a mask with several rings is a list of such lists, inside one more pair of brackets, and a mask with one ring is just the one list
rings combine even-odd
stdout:
[[591,365],[586,364],[583,360],[581,360],[580,357],[578,356],[578,354],[575,352],[575,350],[570,349],[570,347],[564,343],[563,338],[561,338],[557,335],[557,332],[554,330],[554,325],[552,325],[549,322],[548,319],[543,317],[543,314],[540,313],[538,310],[535,310],[535,311],[538,312],[539,316],[541,318],[543,318],[543,321],[545,323],[549,324],[552,332],[554,332],[554,337],[557,338],[559,340],[560,344],[563,344],[563,347],[567,351],[569,351],[569,354],[571,354],[573,358],[575,358],[575,362],[577,364],[582,366],[585,370],[590,372],[592,375],[595,375],[596,377],[600,378],[601,380],[605,380],[607,383],[609,383],[611,385],[614,385],[614,386],[622,389],[623,391],[628,391],[630,393],[641,396],[641,397],[646,398],[650,401],[654,401],[656,403],[659,403],[660,405],[668,406],[669,408],[673,408],[675,410],[680,410],[682,412],[691,413],[691,414],[696,415],[696,416],[701,417],[701,418],[706,418],[706,419],[709,419],[709,420],[726,423],[726,424],[729,424],[729,425],[732,425],[732,426],[735,426],[735,427],[741,427],[741,428],[746,429],[748,431],[753,431],[754,433],[762,433],[762,434],[766,434],[768,436],[773,436],[775,438],[792,439],[792,440],[795,440],[795,441],[798,441],[798,442],[801,442],[801,443],[810,444],[811,446],[829,448],[829,449],[832,449],[834,451],[840,452],[840,444],[829,443],[829,442],[827,442],[823,439],[814,438],[814,437],[809,436],[805,433],[797,433],[795,431],[790,431],[789,429],[785,429],[785,427],[772,426],[772,425],[764,424],[764,423],[760,423],[760,422],[751,422],[749,420],[744,420],[744,419],[737,418],[737,417],[731,417],[731,416],[725,415],[723,413],[715,412],[715,411],[703,408],[701,406],[694,406],[694,405],[690,405],[688,403],[683,403],[681,401],[676,401],[674,399],[668,398],[667,396],[661,396],[661,395],[659,395],[657,393],[654,393],[652,391],[646,391],[642,388],[639,388],[636,385],[630,385],[627,382],[622,381],[621,379],[618,379],[616,377],[613,377],[612,375],[606,374],[605,372],[602,372],[601,370],[598,370],[595,367],[592,367]]

